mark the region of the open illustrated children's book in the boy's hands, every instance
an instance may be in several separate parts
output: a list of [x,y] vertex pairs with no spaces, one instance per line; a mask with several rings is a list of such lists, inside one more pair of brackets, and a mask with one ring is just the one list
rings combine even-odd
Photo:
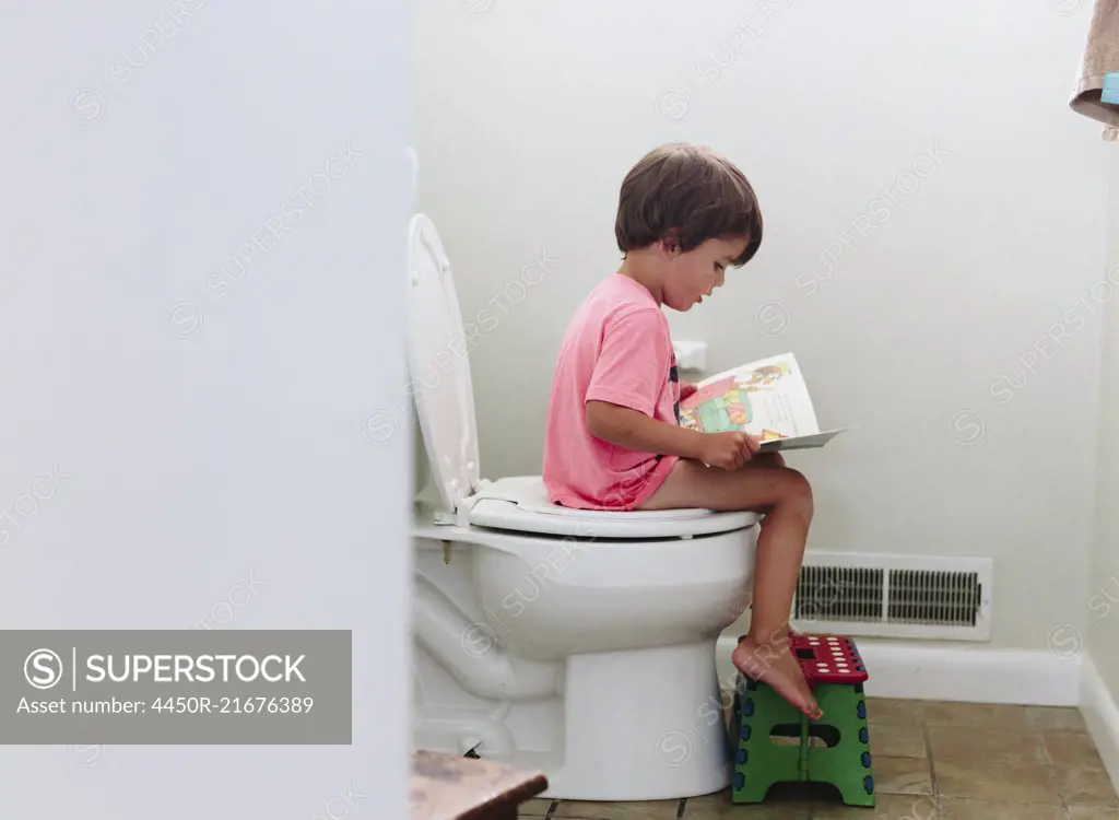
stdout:
[[680,427],[702,432],[742,430],[762,453],[822,447],[846,430],[820,431],[808,385],[791,353],[704,379],[680,402]]

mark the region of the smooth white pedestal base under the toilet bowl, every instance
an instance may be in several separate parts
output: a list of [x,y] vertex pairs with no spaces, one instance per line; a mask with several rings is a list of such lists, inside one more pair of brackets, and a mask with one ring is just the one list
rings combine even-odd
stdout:
[[726,789],[731,749],[709,640],[571,655],[563,763],[542,798],[673,800]]

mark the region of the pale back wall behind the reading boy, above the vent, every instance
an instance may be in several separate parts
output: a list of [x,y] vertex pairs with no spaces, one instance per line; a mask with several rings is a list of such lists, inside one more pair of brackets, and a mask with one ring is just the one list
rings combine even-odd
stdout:
[[[1068,109],[1088,10],[1069,8],[417,3],[420,205],[485,328],[483,475],[539,470],[626,170],[712,145],[755,184],[765,239],[669,318],[712,369],[796,352],[821,422],[862,428],[796,459],[810,547],[991,556],[995,643],[1043,649],[1088,575],[1107,187],[1099,129]],[[542,253],[547,276],[525,268]]]

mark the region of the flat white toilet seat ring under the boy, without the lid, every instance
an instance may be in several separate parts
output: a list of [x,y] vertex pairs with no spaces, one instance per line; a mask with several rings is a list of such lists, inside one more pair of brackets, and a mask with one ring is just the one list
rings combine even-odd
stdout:
[[464,502],[474,527],[567,538],[643,540],[731,532],[753,525],[751,512],[711,510],[576,510],[553,504],[540,476],[483,479]]

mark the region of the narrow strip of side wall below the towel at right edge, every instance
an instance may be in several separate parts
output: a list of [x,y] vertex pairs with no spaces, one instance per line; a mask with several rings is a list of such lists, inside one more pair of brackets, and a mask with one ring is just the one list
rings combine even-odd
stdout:
[[[1119,282],[1119,155],[1108,158],[1108,276]],[[1096,540],[1088,595],[1064,628],[1070,649],[1087,641],[1092,662],[1119,702],[1119,307],[1104,310],[1103,373],[1100,389],[1099,487]]]

